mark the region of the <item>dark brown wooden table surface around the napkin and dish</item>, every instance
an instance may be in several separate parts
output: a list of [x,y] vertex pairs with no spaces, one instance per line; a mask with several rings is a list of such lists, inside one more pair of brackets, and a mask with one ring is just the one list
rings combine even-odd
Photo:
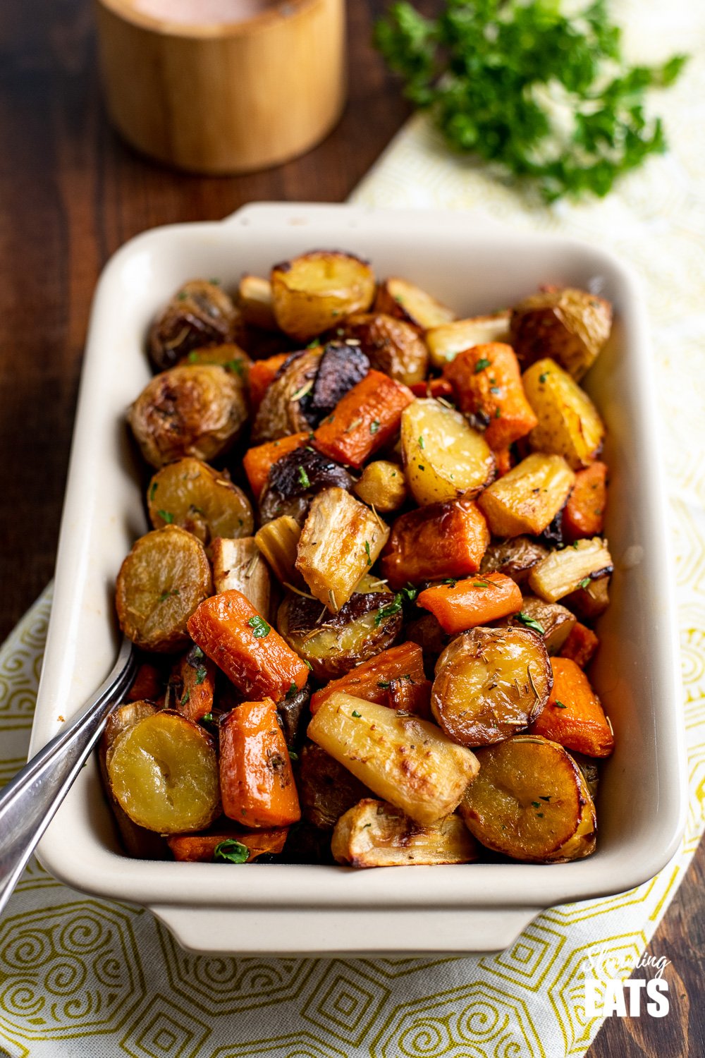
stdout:
[[[277,169],[212,179],[151,164],[111,131],[89,0],[2,0],[0,639],[53,573],[88,312],[103,264],[155,224],[218,219],[254,200],[345,199],[408,113],[369,45],[384,6],[349,4],[350,103],[328,140]],[[671,1013],[612,1018],[590,1058],[705,1055],[704,864],[701,845],[650,948],[671,960]]]

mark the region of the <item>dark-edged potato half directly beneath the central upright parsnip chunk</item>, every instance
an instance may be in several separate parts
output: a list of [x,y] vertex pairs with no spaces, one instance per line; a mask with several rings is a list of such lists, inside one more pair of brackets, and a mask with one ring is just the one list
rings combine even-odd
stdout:
[[289,592],[277,627],[316,679],[336,679],[392,645],[402,631],[402,607],[385,584],[366,574],[335,614],[327,606],[321,610],[311,597]]

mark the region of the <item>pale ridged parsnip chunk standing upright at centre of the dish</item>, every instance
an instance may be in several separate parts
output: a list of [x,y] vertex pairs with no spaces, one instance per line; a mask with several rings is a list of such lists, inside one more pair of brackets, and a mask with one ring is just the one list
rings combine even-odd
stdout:
[[389,527],[342,489],[314,497],[299,539],[296,568],[319,602],[336,613],[387,543]]

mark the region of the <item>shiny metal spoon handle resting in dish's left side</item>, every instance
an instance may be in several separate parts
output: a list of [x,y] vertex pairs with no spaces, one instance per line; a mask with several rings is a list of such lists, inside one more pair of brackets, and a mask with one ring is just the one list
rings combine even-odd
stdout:
[[0,792],[0,914],[24,864],[132,681],[136,655],[124,639],[113,669],[75,719]]

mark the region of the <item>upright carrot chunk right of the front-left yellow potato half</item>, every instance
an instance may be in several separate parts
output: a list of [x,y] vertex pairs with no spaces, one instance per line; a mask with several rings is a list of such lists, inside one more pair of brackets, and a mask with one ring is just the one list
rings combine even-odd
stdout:
[[289,826],[301,818],[272,698],[243,701],[221,720],[220,795],[225,815],[243,826]]

